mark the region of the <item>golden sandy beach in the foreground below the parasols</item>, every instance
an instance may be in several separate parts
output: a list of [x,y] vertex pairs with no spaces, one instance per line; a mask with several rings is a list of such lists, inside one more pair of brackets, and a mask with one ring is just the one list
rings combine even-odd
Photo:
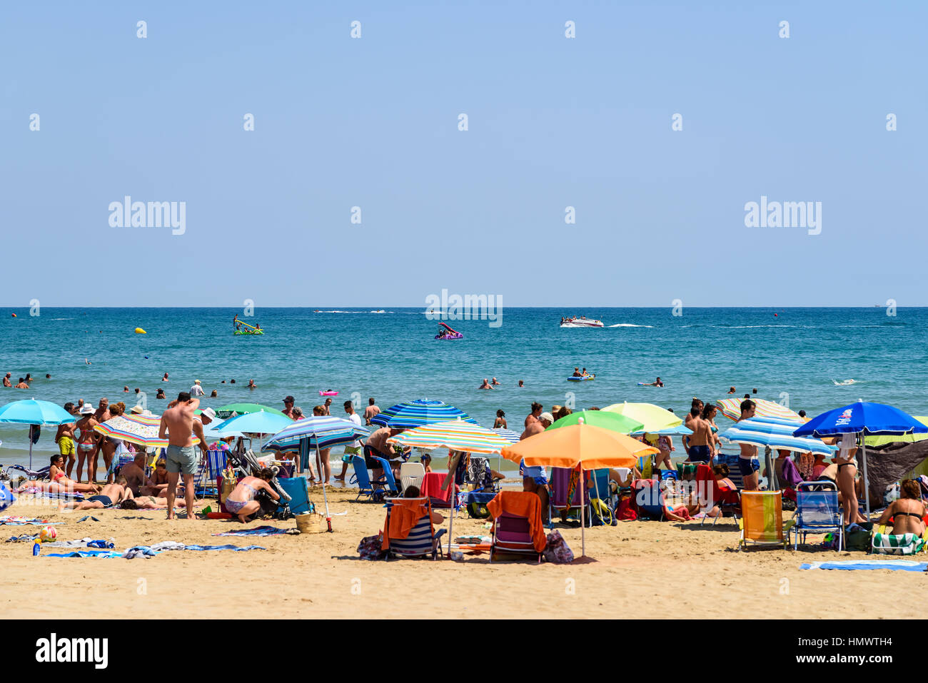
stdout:
[[[699,522],[620,522],[586,530],[586,560],[541,565],[489,563],[487,555],[464,561],[363,561],[359,540],[376,534],[384,510],[354,502],[351,489],[330,489],[333,534],[266,537],[213,536],[241,528],[236,522],[175,520],[165,513],[94,510],[99,522],[76,523],[86,512],[57,512],[22,496],[9,515],[58,523],[58,538],[112,537],[116,549],[163,540],[185,544],[249,546],[266,550],[167,551],[150,559],[101,560],[32,557],[32,543],[0,544],[5,573],[6,618],[584,618],[617,617],[629,610],[654,618],[914,618],[910,599],[924,577],[913,572],[803,571],[800,564],[867,559],[864,553],[822,550],[737,551],[738,527]],[[321,490],[311,494],[323,509]],[[784,513],[784,517],[790,513]],[[60,523],[66,522],[66,523]],[[269,523],[294,527],[287,522]],[[447,520],[445,520],[445,527]],[[36,526],[2,527],[11,535]],[[580,530],[559,526],[580,554]],[[466,513],[455,535],[488,533]],[[447,536],[445,535],[445,540]],[[810,540],[813,537],[810,536]],[[44,548],[44,552],[60,548]],[[55,586],[60,599],[21,599],[38,586]],[[242,588],[250,586],[250,611]],[[868,595],[853,613],[835,609],[840,594]],[[889,607],[889,606],[892,607]],[[635,606],[638,606],[635,609]]]

